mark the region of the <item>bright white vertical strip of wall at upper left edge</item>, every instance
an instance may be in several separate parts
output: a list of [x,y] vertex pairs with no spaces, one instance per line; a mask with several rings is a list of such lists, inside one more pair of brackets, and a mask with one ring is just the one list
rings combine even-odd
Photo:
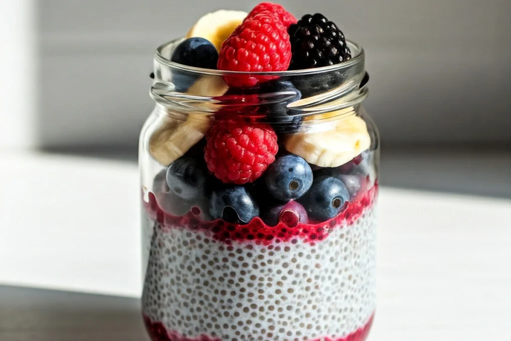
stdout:
[[0,147],[36,141],[37,55],[30,0],[0,0]]

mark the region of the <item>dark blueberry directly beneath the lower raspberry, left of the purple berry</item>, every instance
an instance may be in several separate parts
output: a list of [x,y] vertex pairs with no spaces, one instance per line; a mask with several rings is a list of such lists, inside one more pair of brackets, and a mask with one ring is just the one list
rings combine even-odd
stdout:
[[211,193],[210,214],[213,219],[248,223],[259,215],[259,207],[245,187],[227,187]]

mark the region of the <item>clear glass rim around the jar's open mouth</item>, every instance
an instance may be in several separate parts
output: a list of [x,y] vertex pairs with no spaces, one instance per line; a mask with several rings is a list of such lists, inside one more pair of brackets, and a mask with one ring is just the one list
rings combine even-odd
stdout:
[[226,75],[251,75],[251,76],[300,76],[300,75],[310,75],[310,74],[318,74],[318,73],[328,73],[335,72],[339,70],[346,69],[358,62],[364,60],[364,49],[354,41],[346,40],[347,46],[350,48],[352,53],[355,54],[349,60],[340,62],[338,64],[329,65],[329,66],[321,66],[315,67],[314,69],[301,69],[301,70],[287,70],[287,71],[271,71],[271,72],[250,72],[250,71],[225,71],[225,70],[214,70],[214,69],[204,69],[203,67],[195,67],[188,66],[184,64],[179,64],[171,61],[170,59],[164,57],[164,49],[168,48],[171,44],[175,44],[184,38],[177,38],[170,41],[167,41],[161,44],[154,53],[154,60],[160,64],[166,65],[173,69],[178,69],[182,71],[187,71],[191,73],[196,73],[198,75],[217,75],[217,76],[226,76]]

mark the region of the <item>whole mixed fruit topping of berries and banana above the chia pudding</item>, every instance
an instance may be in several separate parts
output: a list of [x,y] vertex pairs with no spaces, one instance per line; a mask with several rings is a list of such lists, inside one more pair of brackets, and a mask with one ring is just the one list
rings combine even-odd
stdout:
[[[253,224],[271,233],[261,226],[316,224],[336,217],[350,200],[356,205],[377,170],[371,127],[358,107],[332,111],[350,75],[336,68],[304,77],[272,74],[351,58],[344,34],[319,13],[297,21],[283,6],[264,2],[248,14],[220,10],[201,17],[171,60],[227,72],[157,70],[154,88],[170,89],[177,104],[149,126],[149,152],[166,167],[153,184],[158,204],[178,218],[202,212],[200,218],[223,219],[212,223],[224,228]],[[366,81],[367,75],[361,86]],[[259,206],[262,220],[250,222]]]

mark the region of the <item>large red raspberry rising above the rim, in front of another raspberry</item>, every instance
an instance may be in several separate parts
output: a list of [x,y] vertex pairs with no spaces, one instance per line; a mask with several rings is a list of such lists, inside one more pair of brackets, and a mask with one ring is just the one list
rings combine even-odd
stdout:
[[[247,18],[222,44],[218,70],[285,71],[291,62],[291,43],[282,21],[269,12]],[[234,87],[250,87],[270,76],[225,76]]]

